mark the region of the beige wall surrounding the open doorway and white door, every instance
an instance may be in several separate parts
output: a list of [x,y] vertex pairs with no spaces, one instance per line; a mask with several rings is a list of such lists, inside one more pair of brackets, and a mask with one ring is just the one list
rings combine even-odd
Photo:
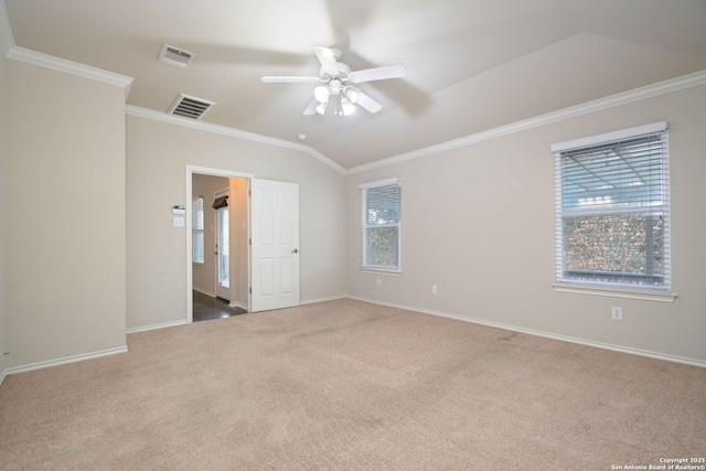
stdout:
[[345,178],[309,154],[127,117],[128,328],[186,319],[186,235],[170,208],[185,204],[186,165],[299,183],[302,301],[345,293]]

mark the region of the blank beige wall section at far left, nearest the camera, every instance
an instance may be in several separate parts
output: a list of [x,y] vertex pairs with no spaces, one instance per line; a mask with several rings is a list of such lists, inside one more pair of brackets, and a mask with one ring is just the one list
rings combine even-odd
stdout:
[[6,64],[8,366],[126,345],[125,89]]

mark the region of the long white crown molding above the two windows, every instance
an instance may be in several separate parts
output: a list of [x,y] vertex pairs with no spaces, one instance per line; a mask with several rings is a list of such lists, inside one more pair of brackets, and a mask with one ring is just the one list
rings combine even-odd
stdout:
[[473,135],[464,136],[459,139],[441,142],[438,144],[425,147],[421,149],[413,150],[410,152],[400,153],[386,159],[377,160],[375,162],[364,163],[362,165],[347,169],[347,174],[361,173],[373,169],[379,169],[383,167],[394,165],[409,160],[420,159],[422,157],[432,156],[439,152],[445,152],[460,147],[470,146],[477,142],[486,141],[490,139],[496,139],[503,136],[512,135],[514,132],[521,132],[541,126],[550,125],[554,122],[564,121],[566,119],[576,118],[582,115],[601,111],[603,109],[613,108],[621,105],[627,105],[633,101],[640,101],[648,98],[653,98],[660,95],[678,92],[684,88],[696,87],[706,84],[706,71],[696,72],[693,74],[684,75],[682,77],[672,78],[656,84],[648,85],[644,87],[635,88],[630,92],[624,92],[616,95],[610,95],[605,98],[599,98],[592,101],[587,101],[581,105],[576,105],[569,108],[564,108],[558,111],[552,111],[546,115],[539,115],[534,118],[528,118],[522,121],[513,122],[507,126],[501,126],[486,131],[477,132]]

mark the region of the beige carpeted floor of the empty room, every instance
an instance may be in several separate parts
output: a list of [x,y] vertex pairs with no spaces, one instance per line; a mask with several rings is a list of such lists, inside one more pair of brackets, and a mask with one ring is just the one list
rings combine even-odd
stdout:
[[611,470],[706,456],[706,370],[354,300],[9,376],[0,469]]

